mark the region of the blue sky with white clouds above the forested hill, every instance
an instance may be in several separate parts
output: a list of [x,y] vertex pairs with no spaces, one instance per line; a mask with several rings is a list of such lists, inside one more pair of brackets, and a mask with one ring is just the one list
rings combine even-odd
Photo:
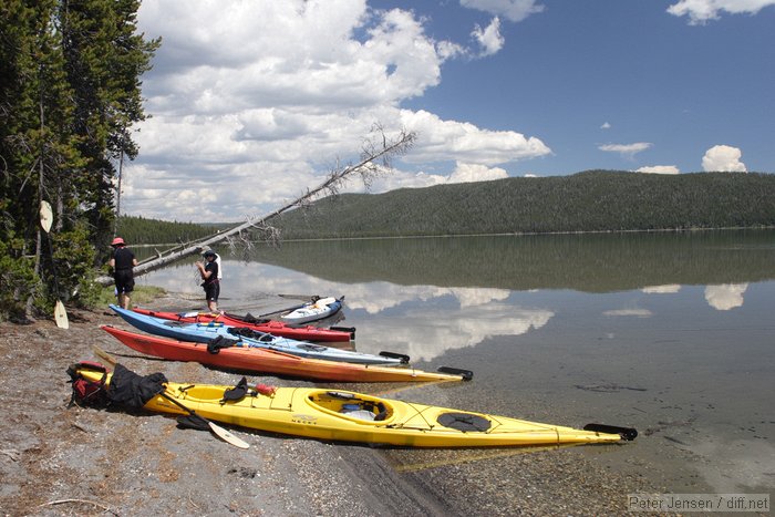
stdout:
[[[775,0],[153,0],[123,215],[261,217],[416,134],[369,186],[775,172]],[[364,192],[350,182],[343,192]]]

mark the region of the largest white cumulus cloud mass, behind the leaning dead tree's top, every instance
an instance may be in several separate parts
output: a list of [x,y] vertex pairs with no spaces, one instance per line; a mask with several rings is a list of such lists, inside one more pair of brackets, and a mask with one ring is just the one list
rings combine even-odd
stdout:
[[[524,2],[497,3],[514,13]],[[478,33],[488,52],[503,44],[498,20]],[[550,153],[517,131],[401,107],[440,84],[445,61],[475,53],[435,40],[427,22],[365,0],[143,2],[138,29],[163,42],[143,76],[151,117],[136,127],[123,211],[194,221],[265,214],[355,161],[375,123],[417,134],[394,162],[396,177],[378,187],[464,177],[455,163],[494,174]]]

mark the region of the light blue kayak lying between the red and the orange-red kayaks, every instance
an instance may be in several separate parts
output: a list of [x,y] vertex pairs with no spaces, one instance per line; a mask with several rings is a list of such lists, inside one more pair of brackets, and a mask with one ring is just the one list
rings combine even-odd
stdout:
[[289,338],[278,338],[256,330],[231,327],[223,323],[182,323],[179,321],[164,320],[151,316],[127,311],[118,306],[110,306],[124,321],[144,332],[154,335],[163,335],[179,341],[193,341],[196,343],[210,343],[218,339],[239,341],[241,347],[257,347],[261,349],[285,352],[301,358],[322,359],[327,361],[343,361],[356,364],[400,365],[409,362],[406,355],[390,352],[381,352],[380,355],[371,353],[340,350],[323,347],[307,341],[297,341]]

